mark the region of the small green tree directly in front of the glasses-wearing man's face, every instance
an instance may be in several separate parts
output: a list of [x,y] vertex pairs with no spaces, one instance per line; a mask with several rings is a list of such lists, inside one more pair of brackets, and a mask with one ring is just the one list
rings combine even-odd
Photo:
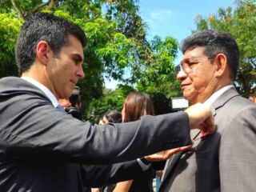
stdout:
[[137,89],[150,95],[154,102],[155,114],[170,113],[170,98],[181,94],[174,66],[178,42],[171,37],[162,41],[155,36],[150,42],[150,47],[151,61],[141,70],[143,75],[138,79]]

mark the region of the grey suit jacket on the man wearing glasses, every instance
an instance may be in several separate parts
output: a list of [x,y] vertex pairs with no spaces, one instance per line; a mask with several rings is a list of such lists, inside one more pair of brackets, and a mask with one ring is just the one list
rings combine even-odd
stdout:
[[255,191],[256,105],[230,89],[213,107],[216,132],[166,163],[161,192]]

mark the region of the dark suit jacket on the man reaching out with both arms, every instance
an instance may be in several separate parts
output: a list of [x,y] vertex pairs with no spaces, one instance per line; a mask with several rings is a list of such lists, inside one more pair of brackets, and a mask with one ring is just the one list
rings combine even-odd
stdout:
[[56,110],[22,78],[0,80],[0,110],[0,191],[77,192],[139,177],[145,172],[136,161],[86,164],[131,161],[190,143],[184,112],[94,126]]

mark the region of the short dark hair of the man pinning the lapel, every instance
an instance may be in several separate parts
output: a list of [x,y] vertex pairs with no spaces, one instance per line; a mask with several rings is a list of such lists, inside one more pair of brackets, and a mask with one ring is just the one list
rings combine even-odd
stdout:
[[54,16],[54,14],[38,12],[30,15],[22,25],[16,43],[15,54],[19,70],[21,72],[30,70],[35,60],[38,42],[46,41],[54,55],[58,55],[62,46],[69,44],[68,35],[74,35],[83,47],[86,46],[86,34],[73,22]]

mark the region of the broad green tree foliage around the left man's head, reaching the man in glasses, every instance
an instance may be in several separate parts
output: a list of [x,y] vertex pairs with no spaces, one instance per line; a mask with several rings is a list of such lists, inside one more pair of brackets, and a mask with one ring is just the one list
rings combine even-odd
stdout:
[[[111,99],[114,99],[112,104],[122,101],[118,100],[120,97],[114,98],[116,94],[110,94],[111,99],[102,98],[105,78],[114,78],[124,85],[138,85],[138,90],[147,94],[163,91],[166,98],[170,98],[172,91],[177,94],[170,80],[174,79],[173,61],[178,44],[173,38],[163,42],[154,38],[147,42],[146,24],[138,14],[138,0],[3,0],[0,3],[0,38],[4,39],[0,43],[0,77],[18,76],[14,44],[20,26],[30,14],[45,11],[77,23],[89,39],[84,51],[86,78],[78,82],[83,114],[88,114],[87,118],[95,114],[91,111],[96,106],[102,109],[101,102],[108,109],[105,106]],[[123,86],[122,90],[130,86]]]

